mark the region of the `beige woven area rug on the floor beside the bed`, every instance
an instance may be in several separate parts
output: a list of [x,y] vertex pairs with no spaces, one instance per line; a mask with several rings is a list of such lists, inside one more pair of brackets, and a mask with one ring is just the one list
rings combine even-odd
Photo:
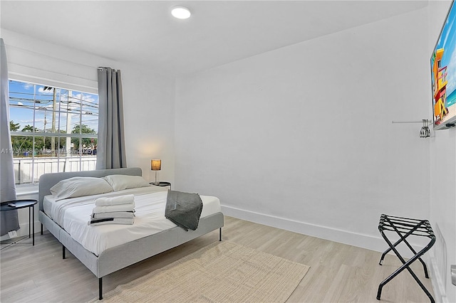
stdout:
[[116,287],[103,295],[103,302],[285,302],[308,270],[223,241]]

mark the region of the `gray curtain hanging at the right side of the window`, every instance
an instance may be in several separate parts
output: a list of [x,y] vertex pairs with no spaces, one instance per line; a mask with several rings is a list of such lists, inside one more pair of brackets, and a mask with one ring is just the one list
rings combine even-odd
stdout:
[[98,102],[96,169],[127,167],[120,70],[98,68]]

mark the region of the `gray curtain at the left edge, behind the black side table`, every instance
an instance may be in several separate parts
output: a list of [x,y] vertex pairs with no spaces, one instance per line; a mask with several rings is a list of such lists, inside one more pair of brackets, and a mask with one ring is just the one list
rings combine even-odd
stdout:
[[[16,200],[13,150],[9,136],[9,88],[5,43],[0,38],[0,201]],[[19,229],[17,211],[2,211],[0,235]]]

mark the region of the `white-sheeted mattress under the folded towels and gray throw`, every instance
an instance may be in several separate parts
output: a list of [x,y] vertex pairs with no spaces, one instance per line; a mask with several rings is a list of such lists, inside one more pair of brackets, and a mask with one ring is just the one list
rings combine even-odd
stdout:
[[[105,224],[88,225],[95,199],[102,196],[135,195],[135,223],[133,225]],[[220,201],[212,196],[200,196],[203,208],[201,218],[221,211]],[[165,218],[167,191],[157,186],[125,189],[95,196],[68,198],[56,201],[53,196],[45,196],[43,208],[46,215],[61,225],[71,237],[86,250],[100,255],[133,240],[147,237],[163,230],[174,228],[175,223]]]

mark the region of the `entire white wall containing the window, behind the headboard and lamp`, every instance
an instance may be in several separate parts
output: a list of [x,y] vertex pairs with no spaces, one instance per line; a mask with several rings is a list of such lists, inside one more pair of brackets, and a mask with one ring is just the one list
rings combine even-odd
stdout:
[[[157,75],[128,62],[56,46],[1,29],[6,44],[9,77],[34,83],[56,85],[86,92],[98,92],[97,67],[122,71],[127,164],[142,169],[152,181],[150,159],[162,159],[160,179],[174,181],[174,79]],[[38,198],[36,188],[26,188],[18,198]],[[36,208],[38,228],[38,208]],[[21,230],[28,233],[28,214],[19,212]],[[2,237],[4,240],[7,236]]]

